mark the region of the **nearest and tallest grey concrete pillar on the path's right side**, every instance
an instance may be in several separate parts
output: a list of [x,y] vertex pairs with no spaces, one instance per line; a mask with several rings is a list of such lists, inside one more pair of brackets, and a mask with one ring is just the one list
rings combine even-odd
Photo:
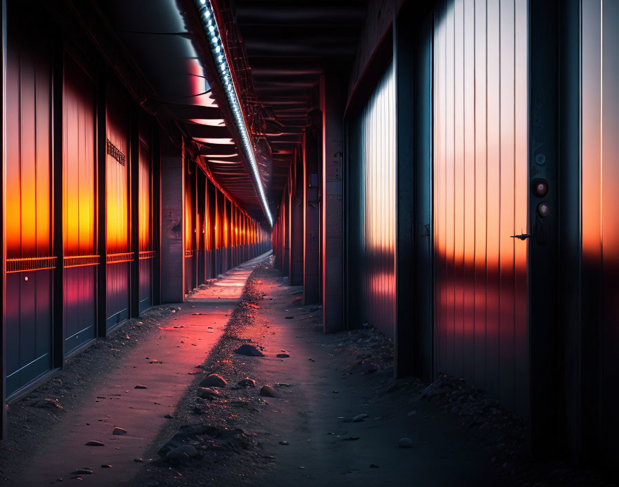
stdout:
[[322,151],[322,302],[323,329],[332,333],[344,324],[343,130],[345,78],[336,71],[323,75]]

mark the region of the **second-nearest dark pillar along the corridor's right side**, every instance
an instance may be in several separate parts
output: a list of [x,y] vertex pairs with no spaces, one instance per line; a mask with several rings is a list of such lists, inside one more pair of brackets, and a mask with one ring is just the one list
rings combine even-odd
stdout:
[[303,304],[321,302],[320,178],[323,117],[310,113],[311,125],[303,137]]

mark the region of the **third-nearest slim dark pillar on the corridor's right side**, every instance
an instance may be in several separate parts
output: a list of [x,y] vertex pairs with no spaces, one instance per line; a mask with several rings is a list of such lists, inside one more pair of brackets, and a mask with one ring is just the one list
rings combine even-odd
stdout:
[[290,285],[303,286],[303,159],[296,149],[290,167],[292,197],[290,199]]

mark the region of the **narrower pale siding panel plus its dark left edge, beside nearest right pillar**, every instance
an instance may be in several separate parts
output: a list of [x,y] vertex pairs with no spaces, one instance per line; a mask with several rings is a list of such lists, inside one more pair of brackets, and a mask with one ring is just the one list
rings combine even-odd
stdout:
[[395,83],[390,63],[347,120],[348,322],[393,338],[395,324]]

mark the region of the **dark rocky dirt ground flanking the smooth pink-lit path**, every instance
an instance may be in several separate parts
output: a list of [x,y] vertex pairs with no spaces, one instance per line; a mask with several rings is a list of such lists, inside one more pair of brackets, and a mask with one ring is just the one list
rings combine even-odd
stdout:
[[[204,345],[205,360],[184,376],[182,392],[168,408],[170,418],[146,421],[152,428],[137,443],[142,462],[107,485],[614,485],[598,472],[573,470],[559,461],[529,462],[522,422],[461,380],[393,380],[392,343],[369,324],[324,335],[320,306],[301,306],[301,288],[288,286],[269,260],[247,274],[230,277],[234,285],[245,285],[240,300],[229,306],[233,311],[217,340]],[[180,326],[191,319],[198,333],[212,323],[206,311],[178,320],[187,306],[214,305],[198,301],[182,304],[184,311],[153,309],[126,324],[12,405],[9,440],[0,448],[3,485],[23,486],[15,484],[20,473],[50,463],[54,441],[74,428],[72,414],[80,402],[96,394],[115,367],[130,363],[135,347],[169,336],[162,324],[177,318]],[[236,353],[243,345],[263,355]],[[180,349],[172,347],[167,361],[174,360],[175,350]],[[202,389],[203,381],[212,380],[209,374],[218,374],[227,385]],[[268,391],[265,385],[271,386]],[[53,401],[39,407],[41,398]],[[134,425],[123,422],[122,427],[131,435]],[[121,454],[131,447],[128,437],[117,439]],[[84,467],[73,463],[73,468]],[[111,469],[122,465],[111,464]],[[98,463],[89,466],[93,474],[38,485],[78,480],[71,477],[95,485],[104,474]]]

